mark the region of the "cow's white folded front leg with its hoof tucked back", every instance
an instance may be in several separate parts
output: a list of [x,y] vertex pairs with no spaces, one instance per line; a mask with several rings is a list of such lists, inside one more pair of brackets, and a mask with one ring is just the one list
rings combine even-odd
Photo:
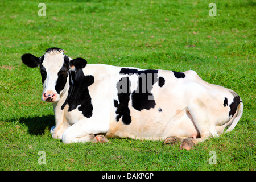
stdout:
[[95,135],[98,133],[106,133],[109,127],[93,121],[78,121],[74,125],[68,127],[62,135],[63,143],[77,142],[93,142],[105,143],[109,142],[104,135]]

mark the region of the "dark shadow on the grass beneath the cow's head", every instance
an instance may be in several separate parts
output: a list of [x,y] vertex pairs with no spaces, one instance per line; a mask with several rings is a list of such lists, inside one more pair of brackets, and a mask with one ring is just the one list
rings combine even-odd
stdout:
[[19,118],[19,123],[23,123],[28,128],[31,135],[43,135],[45,131],[50,131],[55,125],[54,115],[44,115],[42,117]]

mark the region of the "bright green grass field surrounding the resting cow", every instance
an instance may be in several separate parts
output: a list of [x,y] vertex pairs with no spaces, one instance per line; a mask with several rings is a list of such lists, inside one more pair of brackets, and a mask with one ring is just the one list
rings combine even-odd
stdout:
[[[2,1],[0,7],[0,169],[255,170],[255,1]],[[235,129],[180,151],[179,144],[110,139],[64,144],[51,138],[51,104],[40,101],[39,69],[23,53],[60,47],[88,63],[143,69],[193,69],[237,92],[244,104]],[[39,165],[39,151],[46,164]],[[217,164],[209,164],[209,152]]]

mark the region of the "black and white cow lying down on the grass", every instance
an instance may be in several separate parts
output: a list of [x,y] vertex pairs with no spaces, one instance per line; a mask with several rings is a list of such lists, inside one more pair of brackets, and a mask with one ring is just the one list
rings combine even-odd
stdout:
[[180,149],[190,150],[226,127],[232,131],[243,113],[236,92],[209,84],[192,70],[87,64],[56,47],[21,59],[40,68],[42,100],[52,103],[55,115],[51,134],[64,143],[119,137],[179,141]]

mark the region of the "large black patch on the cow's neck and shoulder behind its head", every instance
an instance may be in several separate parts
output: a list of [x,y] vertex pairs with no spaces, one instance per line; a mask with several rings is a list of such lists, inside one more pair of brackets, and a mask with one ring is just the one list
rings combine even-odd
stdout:
[[[82,114],[90,118],[93,112],[92,98],[90,97],[88,86],[94,83],[92,75],[84,75],[82,69],[69,70],[69,90],[68,96],[61,106],[64,109],[68,104],[68,111],[78,109]],[[78,106],[78,108],[77,108]]]

